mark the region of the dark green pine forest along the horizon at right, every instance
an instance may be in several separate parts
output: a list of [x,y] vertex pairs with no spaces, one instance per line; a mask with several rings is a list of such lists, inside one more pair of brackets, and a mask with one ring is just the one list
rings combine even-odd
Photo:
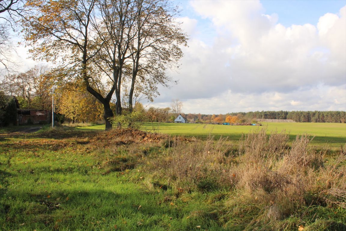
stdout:
[[252,119],[292,119],[295,122],[315,123],[346,123],[346,112],[343,111],[262,111],[262,112],[237,112],[229,115],[243,115]]

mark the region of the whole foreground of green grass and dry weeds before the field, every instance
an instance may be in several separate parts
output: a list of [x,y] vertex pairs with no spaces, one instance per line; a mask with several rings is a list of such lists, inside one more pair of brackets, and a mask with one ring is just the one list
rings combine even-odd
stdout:
[[346,230],[346,152],[134,129],[1,134],[1,230]]

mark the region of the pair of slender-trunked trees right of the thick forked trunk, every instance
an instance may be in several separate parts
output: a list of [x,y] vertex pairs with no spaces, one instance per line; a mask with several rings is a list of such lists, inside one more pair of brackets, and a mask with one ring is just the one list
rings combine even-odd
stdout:
[[[133,110],[134,96],[152,100],[157,84],[169,86],[166,68],[175,69],[182,57],[179,45],[186,36],[174,21],[177,8],[167,0],[100,0],[102,20],[93,22],[102,40],[100,68],[116,82],[116,114],[121,114],[121,97]],[[100,59],[101,57],[101,59]],[[122,87],[128,90],[122,91]],[[136,95],[137,94],[137,95]]]

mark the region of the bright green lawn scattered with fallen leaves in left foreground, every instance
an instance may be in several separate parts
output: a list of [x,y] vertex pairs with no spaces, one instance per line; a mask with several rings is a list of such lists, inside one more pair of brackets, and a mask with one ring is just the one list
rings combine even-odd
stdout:
[[85,146],[73,138],[1,140],[0,230],[220,230],[211,219],[186,219],[206,207],[203,196],[182,204],[166,198],[171,190],[145,192],[140,168],[105,174],[111,151]]

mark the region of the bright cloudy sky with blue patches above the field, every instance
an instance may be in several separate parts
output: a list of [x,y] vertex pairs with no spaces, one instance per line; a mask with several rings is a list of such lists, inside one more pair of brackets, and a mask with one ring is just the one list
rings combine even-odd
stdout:
[[[346,0],[173,0],[188,35],[179,83],[147,107],[183,113],[346,110]],[[19,46],[23,71],[37,64]]]

